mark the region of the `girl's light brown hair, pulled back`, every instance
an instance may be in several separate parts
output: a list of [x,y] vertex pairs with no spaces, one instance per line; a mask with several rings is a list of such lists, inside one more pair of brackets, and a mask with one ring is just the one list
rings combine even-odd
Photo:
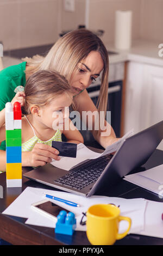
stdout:
[[23,107],[23,113],[30,114],[30,106],[45,106],[56,96],[65,92],[71,94],[70,84],[64,76],[52,70],[39,70],[27,80],[24,90],[26,103]]

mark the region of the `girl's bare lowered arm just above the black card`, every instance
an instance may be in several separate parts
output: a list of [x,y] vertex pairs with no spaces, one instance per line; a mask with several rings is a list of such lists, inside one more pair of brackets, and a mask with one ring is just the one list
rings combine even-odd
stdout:
[[82,134],[78,131],[78,129],[73,125],[72,121],[69,119],[69,130],[63,130],[65,137],[67,138],[67,142],[71,143],[84,143],[84,139]]

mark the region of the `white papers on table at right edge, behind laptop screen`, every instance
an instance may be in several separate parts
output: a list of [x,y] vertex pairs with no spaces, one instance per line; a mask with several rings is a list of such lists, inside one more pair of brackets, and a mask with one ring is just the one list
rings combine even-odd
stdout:
[[161,198],[163,197],[163,164],[143,172],[126,175],[124,180],[159,194]]

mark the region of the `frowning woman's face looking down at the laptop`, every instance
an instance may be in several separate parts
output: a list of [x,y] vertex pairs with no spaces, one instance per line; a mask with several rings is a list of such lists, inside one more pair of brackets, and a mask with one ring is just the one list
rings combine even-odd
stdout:
[[101,54],[97,51],[90,52],[85,59],[78,63],[77,71],[74,71],[71,75],[72,93],[77,95],[83,89],[89,87],[92,81],[96,81],[103,68],[104,63]]

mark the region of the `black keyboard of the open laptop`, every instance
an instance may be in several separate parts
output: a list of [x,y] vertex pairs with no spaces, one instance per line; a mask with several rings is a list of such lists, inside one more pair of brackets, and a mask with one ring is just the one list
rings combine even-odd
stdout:
[[83,167],[79,166],[70,170],[69,173],[54,182],[82,190],[82,188],[98,180],[106,165],[111,160],[111,157],[112,155],[105,155],[96,160],[91,160],[84,164]]

